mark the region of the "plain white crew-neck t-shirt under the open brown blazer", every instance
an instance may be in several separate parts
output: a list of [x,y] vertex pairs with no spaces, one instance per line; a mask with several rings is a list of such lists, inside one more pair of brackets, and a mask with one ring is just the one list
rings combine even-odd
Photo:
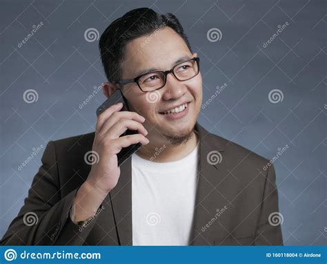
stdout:
[[195,207],[198,149],[174,162],[132,155],[133,245],[188,245]]

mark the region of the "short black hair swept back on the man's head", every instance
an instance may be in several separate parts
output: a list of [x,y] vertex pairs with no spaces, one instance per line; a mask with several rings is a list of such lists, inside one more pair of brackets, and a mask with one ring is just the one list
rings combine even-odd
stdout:
[[112,82],[121,78],[120,64],[124,58],[128,41],[152,34],[158,28],[166,26],[175,30],[191,50],[181,23],[171,13],[159,15],[150,8],[137,8],[110,23],[99,40],[101,61],[107,79]]

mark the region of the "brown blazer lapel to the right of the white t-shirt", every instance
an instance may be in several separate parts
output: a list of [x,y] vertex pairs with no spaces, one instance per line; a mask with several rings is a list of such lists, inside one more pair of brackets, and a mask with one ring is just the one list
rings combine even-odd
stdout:
[[[226,232],[222,225],[215,223],[209,229],[206,225],[215,217],[217,210],[228,205],[224,190],[219,182],[227,175],[224,140],[206,131],[197,123],[199,133],[198,185],[195,211],[189,245],[213,245],[215,234]],[[218,221],[223,218],[219,218]]]

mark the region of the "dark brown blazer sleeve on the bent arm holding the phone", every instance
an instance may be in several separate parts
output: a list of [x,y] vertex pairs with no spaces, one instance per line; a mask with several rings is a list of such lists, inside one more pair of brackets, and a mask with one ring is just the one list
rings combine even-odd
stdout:
[[61,197],[54,142],[48,142],[28,197],[0,245],[83,245],[96,219],[81,228],[70,219],[78,189]]

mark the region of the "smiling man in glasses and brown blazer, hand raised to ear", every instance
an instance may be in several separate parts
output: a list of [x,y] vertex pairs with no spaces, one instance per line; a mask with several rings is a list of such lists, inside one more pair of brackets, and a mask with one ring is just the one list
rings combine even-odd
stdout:
[[[199,58],[177,18],[132,10],[99,48],[103,93],[120,89],[130,111],[115,104],[94,133],[48,143],[1,244],[282,245],[273,167],[197,123]],[[120,137],[127,129],[137,133]],[[117,153],[137,143],[118,167]]]

